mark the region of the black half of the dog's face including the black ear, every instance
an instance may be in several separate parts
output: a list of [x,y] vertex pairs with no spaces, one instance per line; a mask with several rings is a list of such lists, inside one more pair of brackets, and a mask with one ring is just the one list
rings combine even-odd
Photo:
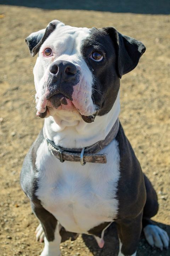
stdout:
[[[100,107],[98,115],[103,116],[113,107],[121,76],[136,67],[145,46],[134,38],[121,35],[115,28],[92,28],[80,50],[94,77],[92,99]],[[103,55],[101,61],[89,58],[94,51]]]

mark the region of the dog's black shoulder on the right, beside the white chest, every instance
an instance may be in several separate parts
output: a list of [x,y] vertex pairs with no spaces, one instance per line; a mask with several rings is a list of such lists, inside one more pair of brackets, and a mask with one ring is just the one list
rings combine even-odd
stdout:
[[137,216],[146,202],[146,189],[143,173],[134,150],[120,124],[117,137],[120,154],[120,179],[118,182],[118,218]]

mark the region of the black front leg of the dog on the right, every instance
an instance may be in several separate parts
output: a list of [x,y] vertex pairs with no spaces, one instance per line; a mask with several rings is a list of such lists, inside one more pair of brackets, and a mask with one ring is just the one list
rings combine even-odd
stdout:
[[119,236],[118,256],[136,256],[137,244],[142,231],[142,214],[133,220],[117,220]]

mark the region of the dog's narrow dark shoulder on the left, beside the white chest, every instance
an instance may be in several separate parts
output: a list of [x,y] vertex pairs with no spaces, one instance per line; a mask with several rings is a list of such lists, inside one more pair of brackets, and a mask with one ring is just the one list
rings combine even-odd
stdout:
[[32,144],[30,147],[21,170],[21,175],[20,175],[20,183],[21,187],[26,193],[26,195],[31,199],[32,201],[35,201],[35,191],[37,187],[37,181],[36,181],[36,155],[39,146],[44,140],[44,135],[42,130],[40,131],[38,137],[36,138],[35,142]]

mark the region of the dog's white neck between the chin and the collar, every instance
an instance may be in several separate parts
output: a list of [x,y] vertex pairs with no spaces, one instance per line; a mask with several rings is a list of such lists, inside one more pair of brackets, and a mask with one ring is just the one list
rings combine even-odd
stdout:
[[85,123],[77,112],[58,112],[45,118],[44,133],[47,138],[63,148],[84,148],[106,138],[120,112],[119,93],[114,105],[104,116],[96,116]]

